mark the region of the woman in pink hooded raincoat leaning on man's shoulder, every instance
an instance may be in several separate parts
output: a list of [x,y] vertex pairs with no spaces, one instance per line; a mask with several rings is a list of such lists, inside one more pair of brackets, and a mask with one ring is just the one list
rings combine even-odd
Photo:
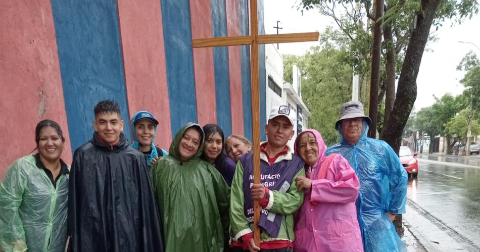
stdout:
[[325,149],[314,129],[295,141],[295,154],[305,162],[307,175],[297,178],[305,198],[295,214],[295,251],[363,251],[355,207],[360,182],[342,155],[325,157]]

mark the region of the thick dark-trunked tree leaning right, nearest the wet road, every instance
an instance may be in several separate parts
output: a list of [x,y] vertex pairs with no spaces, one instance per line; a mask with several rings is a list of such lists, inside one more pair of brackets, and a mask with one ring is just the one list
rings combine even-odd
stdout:
[[[478,13],[477,0],[402,0],[386,1],[388,11],[385,13],[383,23],[392,24],[392,29],[397,29],[398,34],[405,34],[404,42],[407,43],[405,56],[400,71],[397,93],[392,109],[386,107],[388,120],[383,124],[381,139],[385,140],[398,154],[402,140],[402,132],[410,116],[413,104],[416,99],[417,86],[416,79],[420,69],[421,58],[425,45],[429,38],[429,31],[432,25],[441,26],[445,19],[456,19],[457,22],[465,17],[472,17],[473,13]],[[335,5],[338,3],[344,9],[349,9],[350,5],[356,14],[360,10],[358,6],[363,6],[365,14],[372,19],[371,4],[369,0],[302,0],[302,7],[310,9],[313,5]],[[355,3],[356,5],[354,6]],[[441,4],[442,3],[442,4]],[[320,5],[321,6],[321,5]],[[332,10],[334,8],[331,8]],[[413,9],[414,12],[408,12]],[[413,14],[413,15],[412,15]],[[347,16],[350,15],[347,12]],[[360,17],[362,15],[359,15]],[[362,20],[354,18],[354,20]],[[375,20],[377,21],[377,20]],[[361,21],[360,21],[361,22]],[[395,24],[413,24],[413,27],[395,26]],[[363,26],[363,24],[362,24]],[[403,32],[403,33],[402,33]],[[399,38],[399,37],[397,37]],[[400,41],[400,40],[397,40]],[[392,64],[392,62],[390,62]],[[391,71],[389,71],[391,73]],[[389,88],[391,90],[391,88]],[[371,106],[378,106],[378,100],[370,100]],[[397,218],[395,227],[397,232],[403,233],[401,217]]]

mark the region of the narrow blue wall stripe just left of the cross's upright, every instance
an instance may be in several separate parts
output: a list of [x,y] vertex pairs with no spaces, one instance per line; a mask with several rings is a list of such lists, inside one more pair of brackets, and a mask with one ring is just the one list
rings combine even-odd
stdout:
[[[248,0],[238,1],[240,14],[240,35],[249,35]],[[242,97],[244,111],[244,136],[252,141],[252,90],[250,87],[250,46],[243,45],[240,49],[242,66]]]

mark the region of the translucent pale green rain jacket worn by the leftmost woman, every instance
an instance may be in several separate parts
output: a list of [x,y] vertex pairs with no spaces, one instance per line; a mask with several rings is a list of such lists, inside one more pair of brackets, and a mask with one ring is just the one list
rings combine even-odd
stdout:
[[68,174],[55,188],[33,155],[15,161],[0,184],[2,251],[64,251],[67,198]]

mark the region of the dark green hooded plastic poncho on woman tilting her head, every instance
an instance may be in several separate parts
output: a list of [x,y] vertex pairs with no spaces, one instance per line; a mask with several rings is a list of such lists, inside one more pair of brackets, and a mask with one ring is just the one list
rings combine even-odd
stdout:
[[165,251],[223,251],[230,224],[230,189],[217,169],[200,159],[203,142],[194,157],[180,161],[180,139],[190,127],[203,135],[200,125],[187,123],[175,135],[169,155],[151,168]]

